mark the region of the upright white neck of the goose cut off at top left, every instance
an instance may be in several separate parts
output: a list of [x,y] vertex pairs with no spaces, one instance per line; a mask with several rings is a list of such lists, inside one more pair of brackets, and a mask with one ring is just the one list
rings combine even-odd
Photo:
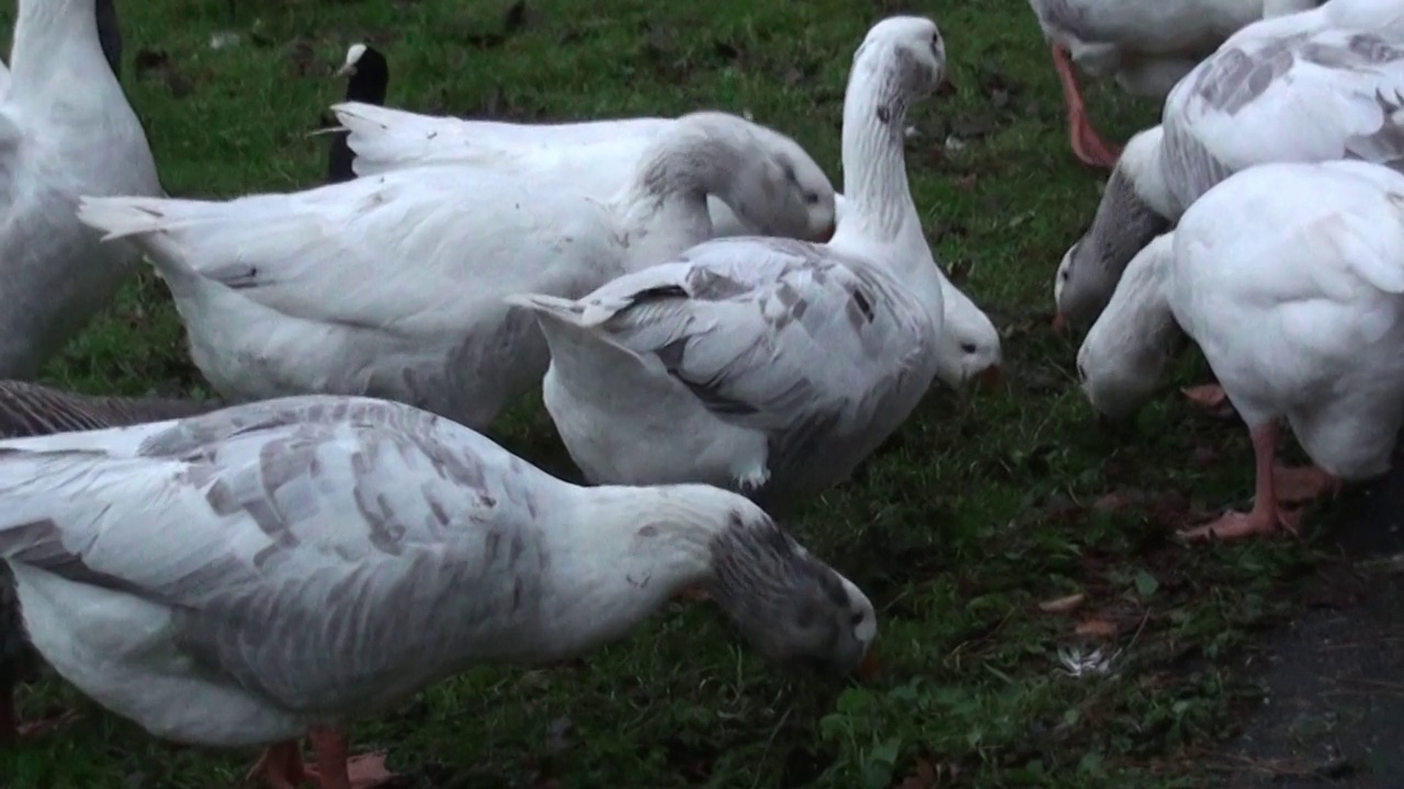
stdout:
[[[94,0],[20,0],[10,55],[14,101],[100,95],[94,83],[117,87],[102,56]],[[48,90],[53,87],[53,90]]]

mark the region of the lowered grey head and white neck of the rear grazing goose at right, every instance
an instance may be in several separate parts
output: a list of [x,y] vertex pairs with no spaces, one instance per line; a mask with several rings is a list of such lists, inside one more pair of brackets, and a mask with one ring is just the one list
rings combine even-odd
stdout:
[[1091,326],[1106,309],[1122,271],[1136,253],[1170,230],[1168,206],[1161,195],[1160,140],[1160,126],[1155,126],[1126,143],[1091,227],[1063,254],[1053,278],[1057,329]]

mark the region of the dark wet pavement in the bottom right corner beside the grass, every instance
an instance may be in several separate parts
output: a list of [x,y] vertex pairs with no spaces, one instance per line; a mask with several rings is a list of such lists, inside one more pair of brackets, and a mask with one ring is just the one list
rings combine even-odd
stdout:
[[1404,789],[1404,468],[1342,498],[1342,562],[1255,657],[1268,695],[1214,786]]

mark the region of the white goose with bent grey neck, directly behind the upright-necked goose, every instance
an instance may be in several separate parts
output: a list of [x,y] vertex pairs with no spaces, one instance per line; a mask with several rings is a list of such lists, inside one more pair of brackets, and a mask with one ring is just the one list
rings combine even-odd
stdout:
[[156,264],[225,399],[369,394],[483,430],[550,361],[505,295],[581,296],[667,260],[710,237],[708,191],[760,222],[806,216],[757,129],[687,115],[607,202],[555,178],[421,167],[227,202],[88,199],[79,216]]

